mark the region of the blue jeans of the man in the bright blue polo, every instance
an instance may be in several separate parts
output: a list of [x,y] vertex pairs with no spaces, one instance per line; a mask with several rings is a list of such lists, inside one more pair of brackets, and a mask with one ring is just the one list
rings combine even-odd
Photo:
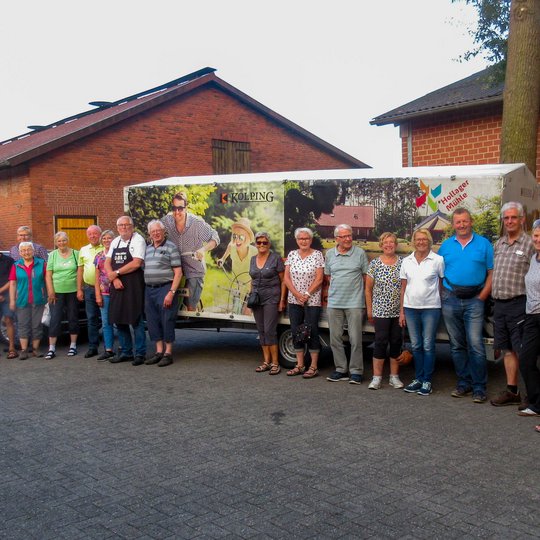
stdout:
[[482,331],[484,302],[461,299],[448,290],[442,292],[442,312],[450,337],[450,350],[458,378],[457,387],[486,393],[487,360]]

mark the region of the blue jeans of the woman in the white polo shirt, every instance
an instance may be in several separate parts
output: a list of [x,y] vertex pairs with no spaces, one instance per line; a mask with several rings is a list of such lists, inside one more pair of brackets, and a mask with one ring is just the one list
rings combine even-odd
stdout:
[[435,369],[435,338],[441,318],[440,308],[405,308],[405,319],[414,357],[415,379],[431,382]]

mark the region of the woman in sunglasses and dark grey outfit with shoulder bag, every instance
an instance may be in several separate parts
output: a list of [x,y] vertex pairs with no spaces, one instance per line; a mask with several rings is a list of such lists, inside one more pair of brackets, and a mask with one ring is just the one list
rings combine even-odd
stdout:
[[255,235],[257,255],[251,258],[249,275],[251,293],[248,307],[253,310],[263,351],[263,363],[255,370],[258,373],[269,371],[277,375],[281,368],[278,360],[277,323],[279,312],[285,309],[285,268],[281,257],[270,251],[270,237],[266,232]]

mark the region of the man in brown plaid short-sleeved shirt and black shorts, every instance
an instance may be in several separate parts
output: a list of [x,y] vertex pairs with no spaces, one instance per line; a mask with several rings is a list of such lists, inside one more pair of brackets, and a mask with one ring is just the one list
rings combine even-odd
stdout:
[[[504,235],[494,246],[493,285],[495,300],[495,349],[504,355],[506,390],[491,400],[495,407],[520,405],[518,389],[521,325],[525,320],[525,274],[529,269],[534,245],[523,230],[525,213],[518,202],[507,202],[501,208]],[[520,407],[521,408],[521,407]]]

